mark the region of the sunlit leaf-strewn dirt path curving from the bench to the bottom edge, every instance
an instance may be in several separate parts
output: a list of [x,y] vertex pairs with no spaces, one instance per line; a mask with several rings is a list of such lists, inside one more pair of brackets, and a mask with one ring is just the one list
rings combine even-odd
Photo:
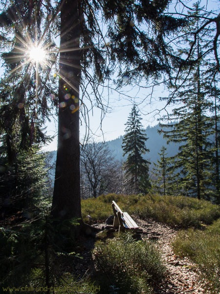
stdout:
[[[156,287],[155,294],[211,294],[205,290],[205,281],[199,281],[199,272],[196,264],[189,258],[178,258],[172,249],[171,243],[177,231],[166,224],[153,220],[135,220],[144,234],[142,239],[155,239],[155,245],[162,252],[166,266],[166,278]],[[147,233],[147,234],[146,234]]]

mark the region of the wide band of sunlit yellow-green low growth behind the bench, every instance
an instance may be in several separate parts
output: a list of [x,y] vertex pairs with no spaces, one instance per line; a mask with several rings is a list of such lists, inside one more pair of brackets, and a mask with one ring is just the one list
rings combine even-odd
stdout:
[[115,200],[123,211],[141,219],[152,218],[178,227],[202,227],[220,218],[220,207],[205,200],[184,196],[110,194],[82,200],[84,220],[90,215],[93,221],[105,221],[113,214],[112,200]]

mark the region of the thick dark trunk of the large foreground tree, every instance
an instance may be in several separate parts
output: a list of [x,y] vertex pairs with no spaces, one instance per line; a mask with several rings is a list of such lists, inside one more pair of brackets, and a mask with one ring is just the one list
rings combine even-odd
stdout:
[[81,218],[79,85],[80,0],[61,3],[58,147],[51,214]]

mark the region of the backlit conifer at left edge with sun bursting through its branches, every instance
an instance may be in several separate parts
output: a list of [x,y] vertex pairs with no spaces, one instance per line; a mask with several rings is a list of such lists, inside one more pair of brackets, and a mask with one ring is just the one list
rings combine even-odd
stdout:
[[[30,50],[40,43],[40,35],[48,21],[49,12],[43,7],[40,1],[15,0],[5,3],[0,13],[4,65],[0,81],[0,202],[3,211],[36,213],[40,199],[44,202],[44,197],[48,196],[44,155],[40,148],[49,141],[44,123],[53,113],[56,101],[52,99],[55,85],[47,83],[54,61],[38,62],[30,55]],[[44,42],[50,43],[46,45],[49,52],[53,47],[49,33]]]

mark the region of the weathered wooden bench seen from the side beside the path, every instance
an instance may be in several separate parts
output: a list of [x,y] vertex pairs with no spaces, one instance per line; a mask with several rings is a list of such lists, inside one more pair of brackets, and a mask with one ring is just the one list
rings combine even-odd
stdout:
[[118,227],[119,232],[124,231],[125,229],[136,230],[139,228],[130,215],[127,212],[123,212],[114,201],[112,201],[111,206],[114,213],[113,226]]

